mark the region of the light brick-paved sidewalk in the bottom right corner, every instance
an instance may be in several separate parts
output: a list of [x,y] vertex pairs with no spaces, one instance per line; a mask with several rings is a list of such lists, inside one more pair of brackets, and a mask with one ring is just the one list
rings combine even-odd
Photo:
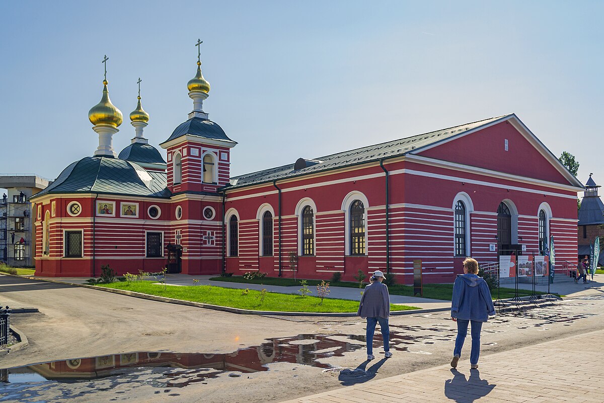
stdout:
[[[470,370],[466,359],[459,362],[457,370],[447,364],[286,403],[602,403],[604,351],[599,348],[602,338],[604,330],[598,330],[483,356],[480,371]],[[469,341],[468,335],[465,357],[469,354]]]

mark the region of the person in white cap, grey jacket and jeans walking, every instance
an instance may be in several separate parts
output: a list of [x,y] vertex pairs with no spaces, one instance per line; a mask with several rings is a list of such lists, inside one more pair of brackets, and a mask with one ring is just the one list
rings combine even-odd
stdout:
[[390,316],[390,295],[388,287],[382,283],[384,273],[379,270],[373,272],[374,281],[365,287],[359,303],[359,311],[356,313],[361,318],[367,318],[367,359],[371,360],[373,356],[373,334],[376,325],[379,327],[384,339],[384,356],[390,358],[390,327],[388,326],[388,317]]

